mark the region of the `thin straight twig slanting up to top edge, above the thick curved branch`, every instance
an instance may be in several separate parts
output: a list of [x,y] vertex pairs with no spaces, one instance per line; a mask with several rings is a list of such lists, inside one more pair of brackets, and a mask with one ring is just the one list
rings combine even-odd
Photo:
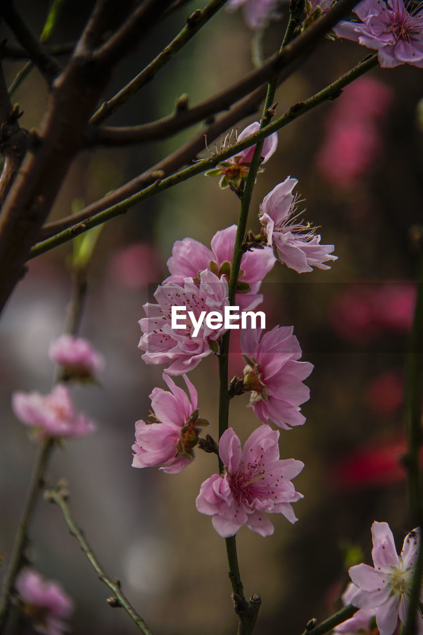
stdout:
[[208,20],[210,20],[215,13],[227,2],[227,0],[211,0],[205,8],[196,15],[195,20],[191,22],[188,20],[187,25],[182,29],[178,35],[171,41],[168,46],[165,46],[163,51],[150,62],[136,77],[124,86],[119,93],[116,93],[109,101],[104,102],[100,108],[93,114],[90,119],[91,124],[98,125],[111,116],[121,105],[128,101],[132,95],[135,95],[144,84],[151,81],[153,77],[167,64],[178,51],[194,36],[201,27],[203,27]]

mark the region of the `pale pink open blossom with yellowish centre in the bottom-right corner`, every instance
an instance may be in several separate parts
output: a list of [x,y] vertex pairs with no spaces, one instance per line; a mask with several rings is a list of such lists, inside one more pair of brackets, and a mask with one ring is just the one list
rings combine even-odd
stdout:
[[[420,529],[406,535],[398,557],[393,533],[387,523],[372,525],[374,568],[352,566],[349,577],[358,587],[351,604],[361,609],[373,609],[380,635],[393,635],[398,617],[405,624],[413,573],[420,545]],[[423,594],[420,594],[420,601]],[[416,634],[423,634],[423,617],[416,613]]]

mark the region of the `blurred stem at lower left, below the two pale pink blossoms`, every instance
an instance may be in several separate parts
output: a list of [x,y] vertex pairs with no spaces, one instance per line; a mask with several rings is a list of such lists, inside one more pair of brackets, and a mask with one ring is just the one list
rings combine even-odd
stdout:
[[1,591],[0,633],[3,632],[9,615],[11,591],[17,573],[22,566],[22,552],[24,551],[27,542],[29,524],[32,519],[32,514],[37,502],[39,490],[43,487],[44,474],[47,469],[48,460],[50,458],[51,450],[53,449],[54,443],[54,439],[46,439],[38,448],[37,458],[34,469],[32,471],[27,497],[25,498],[24,509],[22,510],[22,516],[20,518],[15,535],[15,542],[13,542],[10,563],[4,577],[3,588]]

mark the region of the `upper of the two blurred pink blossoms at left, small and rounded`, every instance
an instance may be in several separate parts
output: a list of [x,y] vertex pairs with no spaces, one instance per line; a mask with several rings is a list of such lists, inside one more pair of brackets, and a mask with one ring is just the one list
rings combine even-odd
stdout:
[[103,356],[82,337],[60,335],[50,345],[48,355],[51,361],[64,366],[70,377],[91,377],[104,367]]

